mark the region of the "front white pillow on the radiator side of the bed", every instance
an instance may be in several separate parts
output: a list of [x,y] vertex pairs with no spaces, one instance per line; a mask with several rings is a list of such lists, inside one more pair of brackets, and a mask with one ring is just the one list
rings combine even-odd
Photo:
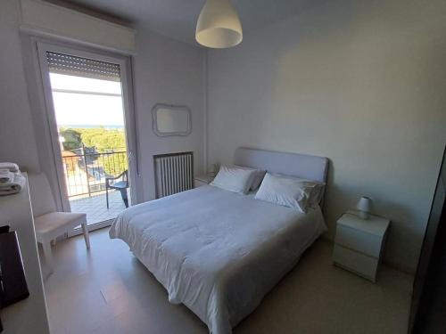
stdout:
[[254,175],[255,169],[221,166],[211,185],[226,191],[247,193]]

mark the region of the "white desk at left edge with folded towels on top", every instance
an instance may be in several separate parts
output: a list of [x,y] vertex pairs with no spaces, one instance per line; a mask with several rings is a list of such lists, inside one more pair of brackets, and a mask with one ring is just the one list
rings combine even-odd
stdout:
[[29,297],[0,311],[4,326],[2,334],[49,334],[28,183],[20,193],[0,197],[0,225],[4,224],[10,224],[12,230],[17,231]]

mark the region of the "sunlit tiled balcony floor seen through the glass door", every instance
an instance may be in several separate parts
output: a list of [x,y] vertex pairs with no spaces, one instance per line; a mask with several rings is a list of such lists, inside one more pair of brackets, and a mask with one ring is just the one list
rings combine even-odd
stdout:
[[[130,191],[128,189],[128,201]],[[125,208],[120,191],[109,191],[109,207],[105,200],[105,192],[92,194],[91,197],[70,199],[71,212],[87,214],[87,224],[97,224],[118,216]]]

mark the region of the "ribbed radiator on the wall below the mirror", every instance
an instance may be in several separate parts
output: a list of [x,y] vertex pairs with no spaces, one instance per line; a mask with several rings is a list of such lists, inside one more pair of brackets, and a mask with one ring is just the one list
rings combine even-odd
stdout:
[[153,156],[156,198],[194,188],[192,152]]

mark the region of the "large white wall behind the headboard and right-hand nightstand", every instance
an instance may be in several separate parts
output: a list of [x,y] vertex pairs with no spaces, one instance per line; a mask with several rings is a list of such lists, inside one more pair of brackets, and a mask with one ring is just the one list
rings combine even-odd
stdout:
[[359,196],[413,271],[446,141],[446,3],[335,1],[209,53],[209,163],[251,146],[326,156],[329,237]]

